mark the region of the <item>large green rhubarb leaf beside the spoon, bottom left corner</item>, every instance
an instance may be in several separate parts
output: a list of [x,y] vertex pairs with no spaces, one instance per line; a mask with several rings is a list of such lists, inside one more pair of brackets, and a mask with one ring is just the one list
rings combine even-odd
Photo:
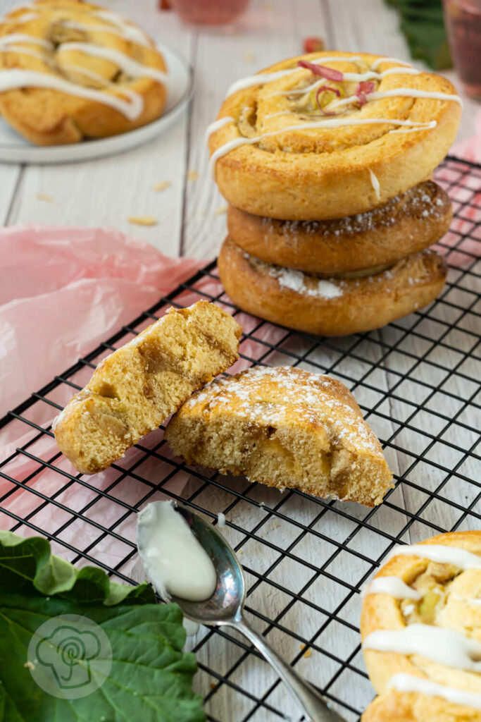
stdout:
[[[0,722],[203,722],[202,698],[192,691],[195,656],[182,652],[182,612],[154,599],[146,584],[76,570],[45,539],[0,532]],[[31,671],[45,661],[29,658],[40,625],[66,614],[98,625],[112,661],[100,686],[76,699],[45,692]]]

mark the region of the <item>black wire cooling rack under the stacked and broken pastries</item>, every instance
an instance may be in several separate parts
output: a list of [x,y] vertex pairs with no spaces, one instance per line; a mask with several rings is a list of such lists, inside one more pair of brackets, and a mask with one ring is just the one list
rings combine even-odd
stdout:
[[[437,246],[449,277],[433,304],[379,331],[319,338],[239,312],[209,264],[0,420],[25,434],[0,464],[0,526],[47,536],[71,561],[131,581],[139,576],[141,505],[164,494],[213,523],[224,513],[223,532],[247,576],[250,621],[347,720],[358,719],[374,694],[359,645],[361,587],[394,544],[481,528],[481,167],[449,157],[436,179],[453,200],[454,220]],[[169,305],[200,298],[244,326],[232,371],[295,365],[334,375],[353,391],[395,471],[382,505],[367,510],[188,468],[172,457],[162,429],[104,474],[72,473],[53,443],[52,416],[112,349]],[[201,628],[192,648],[209,720],[299,719],[273,672],[234,633]]]

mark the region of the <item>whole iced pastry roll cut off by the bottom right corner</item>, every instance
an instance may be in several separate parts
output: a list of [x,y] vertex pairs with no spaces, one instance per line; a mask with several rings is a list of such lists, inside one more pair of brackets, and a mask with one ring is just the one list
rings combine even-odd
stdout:
[[[361,615],[366,665],[381,695],[363,722],[387,722],[394,710],[403,721],[478,721],[480,552],[481,532],[467,531],[389,554],[366,589]],[[402,586],[420,599],[402,594]]]

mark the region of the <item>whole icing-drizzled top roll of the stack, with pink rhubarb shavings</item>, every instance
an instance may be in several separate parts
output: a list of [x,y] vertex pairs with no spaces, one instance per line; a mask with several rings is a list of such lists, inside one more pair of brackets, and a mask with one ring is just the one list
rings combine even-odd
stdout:
[[208,139],[219,190],[291,221],[363,213],[425,181],[461,107],[446,79],[369,53],[291,58],[231,91]]

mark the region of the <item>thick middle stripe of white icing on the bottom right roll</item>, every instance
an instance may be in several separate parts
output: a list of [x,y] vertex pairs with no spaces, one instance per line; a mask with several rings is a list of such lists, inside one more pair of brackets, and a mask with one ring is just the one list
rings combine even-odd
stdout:
[[481,672],[481,642],[445,627],[412,624],[399,630],[376,630],[363,641],[363,649],[419,654],[446,667]]

